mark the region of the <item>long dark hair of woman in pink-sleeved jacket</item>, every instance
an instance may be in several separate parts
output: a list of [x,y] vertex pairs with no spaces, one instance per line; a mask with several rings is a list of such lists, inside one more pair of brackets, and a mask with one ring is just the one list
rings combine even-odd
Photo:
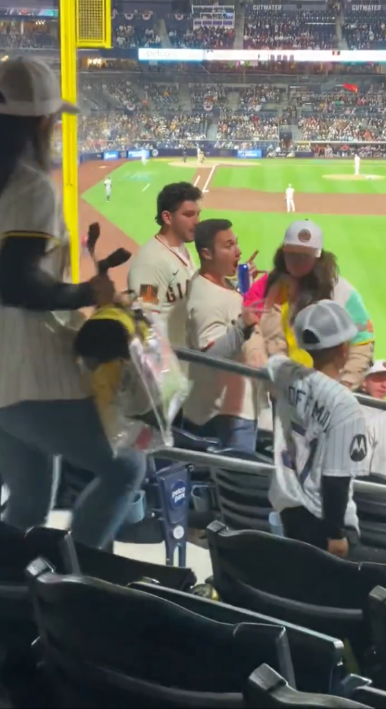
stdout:
[[[288,276],[288,270],[285,267],[283,247],[280,246],[273,258],[273,270],[268,276],[265,297],[283,276]],[[291,307],[291,320],[312,303],[324,299],[330,300],[338,279],[339,267],[336,257],[331,251],[322,251],[319,259],[316,259],[312,271],[298,281],[297,296]]]

